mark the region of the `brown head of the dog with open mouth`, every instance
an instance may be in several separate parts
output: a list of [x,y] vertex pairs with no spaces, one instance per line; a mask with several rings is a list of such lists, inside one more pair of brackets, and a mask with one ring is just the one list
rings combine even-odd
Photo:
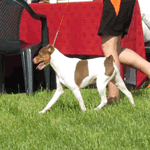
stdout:
[[50,63],[51,54],[54,52],[55,48],[52,45],[47,45],[46,47],[43,47],[36,57],[33,58],[33,63],[39,65],[36,67],[36,69],[42,70],[44,67],[46,67]]

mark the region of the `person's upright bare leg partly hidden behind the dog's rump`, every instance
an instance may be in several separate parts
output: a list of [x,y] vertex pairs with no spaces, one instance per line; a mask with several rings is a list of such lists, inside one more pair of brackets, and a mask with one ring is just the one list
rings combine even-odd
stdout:
[[[120,70],[120,61],[118,53],[121,53],[121,36],[102,36],[102,49],[105,57],[113,55],[115,64]],[[117,101],[119,98],[118,88],[110,82],[108,85],[108,101]]]

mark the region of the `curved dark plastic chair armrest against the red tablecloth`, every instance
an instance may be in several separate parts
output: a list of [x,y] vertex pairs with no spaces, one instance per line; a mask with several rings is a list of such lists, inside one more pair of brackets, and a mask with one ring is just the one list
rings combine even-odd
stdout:
[[25,1],[23,0],[13,0],[25,8],[32,18],[36,20],[40,20],[42,23],[42,34],[41,34],[41,42],[42,46],[47,46],[49,43],[49,34],[48,34],[48,26],[47,26],[47,18],[44,14],[36,13]]

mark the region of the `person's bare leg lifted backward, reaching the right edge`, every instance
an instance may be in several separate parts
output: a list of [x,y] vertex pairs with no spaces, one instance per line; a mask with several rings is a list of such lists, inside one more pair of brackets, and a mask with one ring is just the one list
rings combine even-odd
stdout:
[[142,71],[150,79],[150,63],[147,60],[129,48],[122,48],[118,54],[121,63]]

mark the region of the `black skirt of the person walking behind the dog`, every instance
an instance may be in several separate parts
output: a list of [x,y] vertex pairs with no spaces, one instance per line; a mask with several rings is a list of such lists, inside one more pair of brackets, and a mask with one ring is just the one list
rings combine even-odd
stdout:
[[103,0],[103,14],[98,35],[119,36],[127,34],[136,0],[121,0],[119,14],[116,15],[110,0]]

